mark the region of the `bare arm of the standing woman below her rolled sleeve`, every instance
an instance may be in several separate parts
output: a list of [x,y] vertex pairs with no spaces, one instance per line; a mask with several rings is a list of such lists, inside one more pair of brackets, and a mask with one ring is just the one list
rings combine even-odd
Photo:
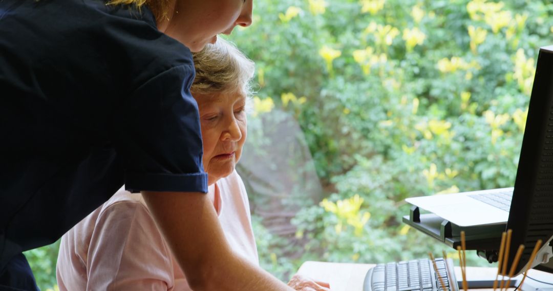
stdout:
[[194,290],[291,290],[229,247],[213,204],[203,193],[142,193]]

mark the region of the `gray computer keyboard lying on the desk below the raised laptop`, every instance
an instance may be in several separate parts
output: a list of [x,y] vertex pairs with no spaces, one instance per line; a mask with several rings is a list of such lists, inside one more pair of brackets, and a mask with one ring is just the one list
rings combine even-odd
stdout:
[[[455,273],[447,272],[443,258],[436,258],[435,261],[446,286],[445,290],[434,271],[432,261],[424,258],[376,265],[367,272],[363,291],[457,291]],[[453,261],[448,259],[448,262],[450,270],[453,271]],[[452,289],[450,281],[454,284]]]

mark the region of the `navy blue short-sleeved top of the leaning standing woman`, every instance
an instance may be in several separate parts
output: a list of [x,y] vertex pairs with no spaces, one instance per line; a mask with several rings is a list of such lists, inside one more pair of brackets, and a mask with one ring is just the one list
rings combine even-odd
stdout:
[[193,79],[147,8],[0,1],[0,270],[123,183],[207,192]]

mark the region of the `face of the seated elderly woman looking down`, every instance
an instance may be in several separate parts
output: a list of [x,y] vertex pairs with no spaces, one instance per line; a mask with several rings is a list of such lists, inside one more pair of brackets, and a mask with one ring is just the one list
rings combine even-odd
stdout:
[[204,168],[208,184],[234,171],[246,141],[246,96],[233,94],[192,94],[200,110]]

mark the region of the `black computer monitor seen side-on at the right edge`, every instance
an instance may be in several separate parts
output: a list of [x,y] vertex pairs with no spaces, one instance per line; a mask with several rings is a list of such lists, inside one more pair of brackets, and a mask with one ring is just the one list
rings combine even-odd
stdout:
[[514,189],[507,222],[507,229],[513,230],[507,266],[523,244],[516,273],[524,271],[536,241],[542,240],[530,267],[553,272],[551,266],[539,266],[553,256],[553,45],[539,51]]

